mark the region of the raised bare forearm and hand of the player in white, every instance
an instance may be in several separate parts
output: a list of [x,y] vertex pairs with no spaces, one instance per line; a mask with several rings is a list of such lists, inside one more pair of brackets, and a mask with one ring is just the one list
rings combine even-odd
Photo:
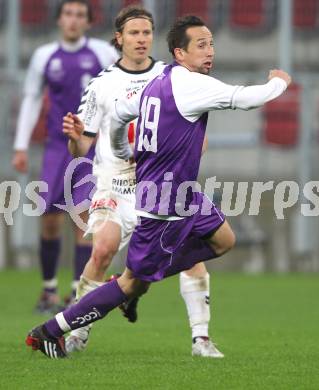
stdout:
[[63,133],[69,137],[68,148],[73,157],[83,157],[94,142],[94,138],[83,135],[84,124],[78,116],[68,112],[63,117]]

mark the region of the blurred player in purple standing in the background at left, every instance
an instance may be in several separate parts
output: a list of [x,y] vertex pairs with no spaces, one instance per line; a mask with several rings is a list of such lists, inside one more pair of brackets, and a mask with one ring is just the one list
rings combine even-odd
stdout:
[[[13,166],[19,172],[28,170],[28,146],[34,125],[39,117],[43,88],[49,95],[46,118],[48,138],[45,143],[41,180],[47,183],[47,192],[41,196],[46,203],[41,220],[40,264],[43,291],[37,303],[39,312],[57,312],[57,265],[61,247],[61,227],[64,213],[57,205],[64,205],[64,179],[71,181],[73,203],[78,205],[89,198],[92,183],[74,187],[92,171],[91,164],[79,164],[72,177],[64,177],[72,160],[67,139],[62,133],[62,118],[76,110],[89,80],[117,59],[116,50],[107,42],[87,38],[84,34],[92,22],[92,8],[85,0],[63,0],[57,9],[57,25],[61,39],[39,47],[32,56],[25,86],[17,133],[14,142]],[[94,147],[87,154],[94,156]],[[87,212],[83,212],[87,219]],[[91,253],[91,245],[83,239],[83,232],[74,225],[74,281],[79,277]]]

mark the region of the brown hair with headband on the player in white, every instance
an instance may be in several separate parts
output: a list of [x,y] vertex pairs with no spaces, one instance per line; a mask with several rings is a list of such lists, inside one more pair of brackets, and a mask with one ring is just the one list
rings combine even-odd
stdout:
[[[147,19],[152,24],[152,30],[154,31],[154,19],[153,15],[147,11],[144,7],[139,4],[129,5],[128,7],[123,8],[115,18],[114,27],[116,32],[122,32],[124,25],[131,19]],[[112,44],[117,50],[122,51],[122,46],[117,43],[117,39],[114,37],[112,39]]]

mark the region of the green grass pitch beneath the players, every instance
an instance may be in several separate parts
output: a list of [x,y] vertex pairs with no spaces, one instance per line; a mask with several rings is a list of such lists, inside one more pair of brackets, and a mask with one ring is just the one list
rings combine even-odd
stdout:
[[[61,272],[67,292],[68,272]],[[116,310],[88,349],[50,360],[24,344],[38,271],[0,272],[0,389],[319,389],[319,276],[218,273],[211,334],[225,358],[192,358],[176,277],[153,285],[129,324]]]

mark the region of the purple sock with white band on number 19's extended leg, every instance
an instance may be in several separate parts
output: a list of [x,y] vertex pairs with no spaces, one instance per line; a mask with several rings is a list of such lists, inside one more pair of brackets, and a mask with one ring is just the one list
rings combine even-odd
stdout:
[[126,299],[117,280],[113,280],[89,292],[77,304],[47,321],[45,329],[51,336],[60,337],[71,329],[100,320]]

